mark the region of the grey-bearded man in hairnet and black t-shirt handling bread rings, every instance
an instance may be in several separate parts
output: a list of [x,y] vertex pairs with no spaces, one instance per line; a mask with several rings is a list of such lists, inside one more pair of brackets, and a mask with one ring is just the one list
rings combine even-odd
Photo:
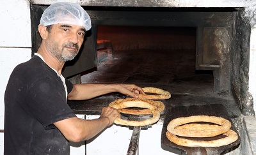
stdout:
[[79,4],[54,3],[38,26],[38,52],[12,72],[4,94],[4,154],[69,154],[68,141],[88,140],[120,117],[104,107],[99,119],[76,117],[67,100],[87,100],[109,92],[134,98],[145,94],[129,84],[75,84],[61,75],[74,59],[91,28],[90,17]]

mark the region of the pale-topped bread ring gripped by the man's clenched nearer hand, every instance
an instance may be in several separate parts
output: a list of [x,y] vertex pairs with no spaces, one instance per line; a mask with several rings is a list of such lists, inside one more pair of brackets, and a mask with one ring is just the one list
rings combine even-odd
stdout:
[[139,108],[148,108],[152,113],[152,117],[150,119],[145,119],[143,121],[129,121],[121,118],[115,119],[115,124],[125,125],[125,126],[147,126],[150,124],[154,124],[160,118],[160,112],[156,109],[154,105],[147,103],[146,101],[136,100],[136,101],[124,101],[118,104],[113,104],[109,107],[113,107],[116,109],[120,108],[129,108],[129,107],[139,107]]

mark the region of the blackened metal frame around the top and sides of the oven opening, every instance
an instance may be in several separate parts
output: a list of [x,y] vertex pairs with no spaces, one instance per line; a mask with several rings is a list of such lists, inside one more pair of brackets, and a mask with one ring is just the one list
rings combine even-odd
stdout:
[[[196,27],[196,70],[213,71],[214,92],[232,92],[232,58],[226,57],[230,57],[234,51],[232,37],[236,8],[83,7],[92,18],[92,29],[88,31],[88,37],[81,48],[83,52],[65,64],[64,77],[73,77],[97,66],[97,26]],[[33,54],[40,45],[40,35],[36,32],[36,26],[40,20],[38,17],[45,8],[47,6],[31,5]],[[221,41],[223,37],[225,41]],[[212,41],[221,46],[213,45]],[[85,61],[81,62],[81,59]]]

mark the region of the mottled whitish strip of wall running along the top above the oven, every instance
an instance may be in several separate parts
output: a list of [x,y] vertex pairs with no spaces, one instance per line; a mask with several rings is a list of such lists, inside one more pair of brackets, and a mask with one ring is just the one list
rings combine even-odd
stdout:
[[[56,1],[52,0],[32,0],[31,3],[33,4],[52,4],[56,3]],[[227,1],[227,0],[216,0],[216,1],[205,1],[205,0],[191,0],[191,1],[182,1],[182,0],[155,0],[155,1],[119,1],[119,0],[96,0],[96,1],[72,1],[69,2],[78,3],[81,6],[125,6],[125,7],[173,7],[173,8],[250,8],[253,6],[255,2],[253,1]]]

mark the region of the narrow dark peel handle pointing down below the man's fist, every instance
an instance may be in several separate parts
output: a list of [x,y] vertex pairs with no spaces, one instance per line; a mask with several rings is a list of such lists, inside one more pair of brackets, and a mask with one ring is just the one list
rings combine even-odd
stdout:
[[132,131],[131,141],[127,151],[127,155],[135,155],[136,152],[138,152],[140,129],[141,129],[140,126],[134,126]]

